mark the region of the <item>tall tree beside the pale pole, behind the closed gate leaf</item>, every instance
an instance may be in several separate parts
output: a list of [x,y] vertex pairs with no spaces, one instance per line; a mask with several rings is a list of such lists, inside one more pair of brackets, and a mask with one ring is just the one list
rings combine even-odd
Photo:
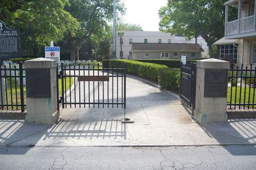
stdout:
[[[107,21],[113,18],[113,1],[105,0],[70,0],[70,5],[65,9],[79,22],[79,27],[74,29],[75,34],[68,32],[66,39],[70,51],[70,60],[75,60],[75,50],[84,40],[100,31]],[[117,10],[123,12],[120,0],[117,1]]]

